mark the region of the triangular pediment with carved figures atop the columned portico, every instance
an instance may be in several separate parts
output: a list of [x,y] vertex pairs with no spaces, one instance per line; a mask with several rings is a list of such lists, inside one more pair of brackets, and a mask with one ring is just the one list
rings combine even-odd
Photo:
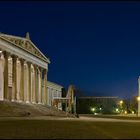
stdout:
[[0,34],[0,37],[5,41],[8,41],[16,45],[17,47],[20,47],[25,51],[31,53],[32,55],[50,63],[49,59],[45,55],[43,55],[43,53],[34,45],[34,43],[31,40],[5,34]]

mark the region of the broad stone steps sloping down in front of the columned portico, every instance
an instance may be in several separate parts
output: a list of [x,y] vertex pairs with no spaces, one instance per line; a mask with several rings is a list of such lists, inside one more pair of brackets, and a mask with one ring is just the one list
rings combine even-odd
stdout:
[[58,116],[75,117],[73,114],[57,110],[42,104],[27,104],[24,102],[0,101],[0,117],[26,117],[26,116]]

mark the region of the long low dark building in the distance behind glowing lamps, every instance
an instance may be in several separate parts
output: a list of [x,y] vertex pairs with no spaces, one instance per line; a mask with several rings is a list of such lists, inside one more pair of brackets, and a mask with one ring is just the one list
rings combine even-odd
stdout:
[[77,97],[78,114],[112,114],[116,113],[118,97]]

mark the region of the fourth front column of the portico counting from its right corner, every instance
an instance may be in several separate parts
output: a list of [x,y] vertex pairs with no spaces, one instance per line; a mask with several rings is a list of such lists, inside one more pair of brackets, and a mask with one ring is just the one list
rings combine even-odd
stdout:
[[30,62],[27,62],[27,65],[28,65],[28,94],[29,94],[29,102],[31,102],[31,63]]

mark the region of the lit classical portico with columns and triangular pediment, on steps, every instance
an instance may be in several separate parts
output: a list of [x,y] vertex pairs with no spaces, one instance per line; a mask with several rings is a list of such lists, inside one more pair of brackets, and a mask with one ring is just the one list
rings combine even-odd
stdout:
[[0,100],[47,104],[49,63],[28,33],[0,33]]

